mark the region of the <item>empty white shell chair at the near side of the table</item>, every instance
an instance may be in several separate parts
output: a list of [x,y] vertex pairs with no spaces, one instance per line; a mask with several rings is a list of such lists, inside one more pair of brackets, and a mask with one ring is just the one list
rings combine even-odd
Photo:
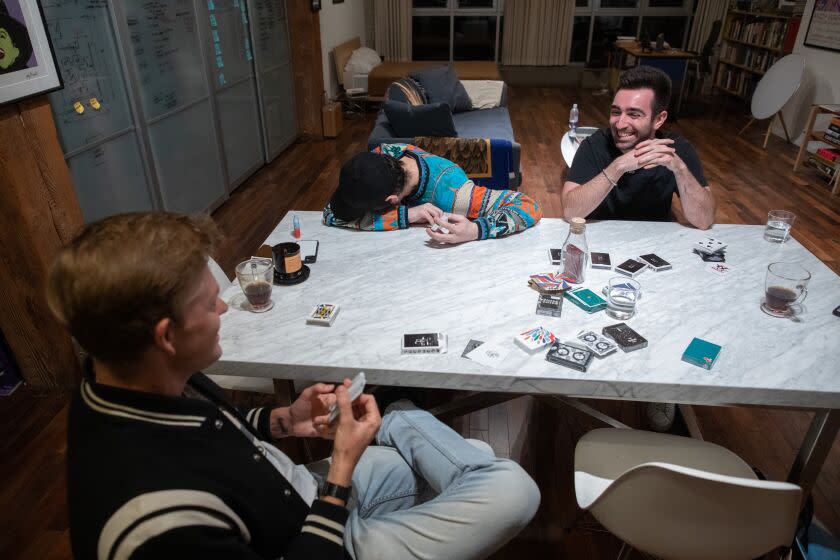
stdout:
[[575,448],[578,505],[626,543],[619,558],[760,557],[793,543],[801,494],[702,440],[608,428]]

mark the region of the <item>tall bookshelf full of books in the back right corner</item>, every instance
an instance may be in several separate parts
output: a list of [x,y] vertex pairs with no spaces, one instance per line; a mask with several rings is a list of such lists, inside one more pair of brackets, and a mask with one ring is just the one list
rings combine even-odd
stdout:
[[793,50],[800,16],[730,9],[715,69],[715,88],[750,99],[774,62]]

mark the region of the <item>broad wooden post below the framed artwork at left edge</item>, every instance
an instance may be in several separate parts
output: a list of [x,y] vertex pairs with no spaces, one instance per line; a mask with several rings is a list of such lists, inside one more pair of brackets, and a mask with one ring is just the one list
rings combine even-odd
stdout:
[[0,329],[27,383],[66,388],[79,366],[44,290],[53,257],[83,222],[47,97],[0,107],[0,138]]

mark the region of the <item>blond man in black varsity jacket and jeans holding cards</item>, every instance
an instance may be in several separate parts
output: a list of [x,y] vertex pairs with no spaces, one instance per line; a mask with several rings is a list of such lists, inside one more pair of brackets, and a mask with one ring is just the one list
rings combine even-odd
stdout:
[[[380,417],[345,380],[242,413],[198,373],[222,353],[216,235],[207,217],[124,214],[53,265],[50,308],[90,355],[68,420],[77,558],[468,559],[519,532],[530,477],[407,401]],[[296,465],[272,444],[287,436],[333,439],[332,456]]]

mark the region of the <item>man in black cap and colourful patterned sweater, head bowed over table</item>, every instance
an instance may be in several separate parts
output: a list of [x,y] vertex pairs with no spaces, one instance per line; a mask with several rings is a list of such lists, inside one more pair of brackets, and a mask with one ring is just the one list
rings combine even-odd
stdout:
[[522,193],[476,186],[455,163],[411,144],[383,144],[344,164],[323,221],[369,231],[428,224],[435,241],[463,243],[504,237],[541,217]]

